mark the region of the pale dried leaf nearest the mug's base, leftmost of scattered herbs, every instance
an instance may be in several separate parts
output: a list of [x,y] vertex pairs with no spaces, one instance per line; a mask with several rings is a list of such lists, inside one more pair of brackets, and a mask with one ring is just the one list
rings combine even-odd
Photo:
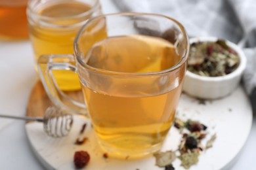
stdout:
[[173,151],[157,152],[154,154],[154,156],[156,158],[156,165],[158,165],[158,167],[171,165],[171,163],[173,163],[173,161],[176,159],[176,154]]

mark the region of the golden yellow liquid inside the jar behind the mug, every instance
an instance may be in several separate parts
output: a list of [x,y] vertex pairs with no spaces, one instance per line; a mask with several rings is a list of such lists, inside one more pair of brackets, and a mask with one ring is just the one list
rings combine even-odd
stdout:
[[[43,54],[74,54],[74,39],[80,27],[68,26],[83,22],[84,20],[80,21],[81,19],[74,16],[90,9],[90,5],[79,1],[63,1],[63,3],[50,1],[37,10],[39,16],[54,18],[54,20],[44,25],[36,22],[29,25],[35,61]],[[53,73],[61,90],[71,91],[81,88],[78,76],[74,72],[53,71]]]

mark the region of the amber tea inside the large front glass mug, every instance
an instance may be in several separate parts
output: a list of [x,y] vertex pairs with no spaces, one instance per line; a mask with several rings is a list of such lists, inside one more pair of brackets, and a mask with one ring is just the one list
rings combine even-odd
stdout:
[[[96,43],[89,55],[88,65],[125,73],[162,71],[181,59],[170,42],[144,35],[110,37]],[[181,78],[184,70],[185,67]],[[145,90],[145,87],[150,88]],[[182,87],[156,93],[160,88],[157,78],[154,81],[138,78],[136,82],[130,82],[129,78],[120,82],[109,80],[104,92],[83,85],[93,127],[106,152],[125,158],[160,149],[173,123]]]

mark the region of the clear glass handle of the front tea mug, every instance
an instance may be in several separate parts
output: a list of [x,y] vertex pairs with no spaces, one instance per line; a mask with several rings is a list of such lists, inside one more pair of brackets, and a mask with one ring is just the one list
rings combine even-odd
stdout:
[[75,63],[72,54],[40,56],[37,62],[39,76],[47,95],[54,105],[61,107],[72,114],[82,114],[89,118],[86,105],[79,101],[75,101],[60,90],[53,76],[53,70],[68,70],[76,73],[76,67],[72,63]]

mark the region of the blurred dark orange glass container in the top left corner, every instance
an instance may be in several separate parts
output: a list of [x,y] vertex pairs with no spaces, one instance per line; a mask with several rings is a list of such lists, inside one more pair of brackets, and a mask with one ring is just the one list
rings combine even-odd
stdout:
[[27,3],[28,0],[0,0],[0,39],[28,39]]

